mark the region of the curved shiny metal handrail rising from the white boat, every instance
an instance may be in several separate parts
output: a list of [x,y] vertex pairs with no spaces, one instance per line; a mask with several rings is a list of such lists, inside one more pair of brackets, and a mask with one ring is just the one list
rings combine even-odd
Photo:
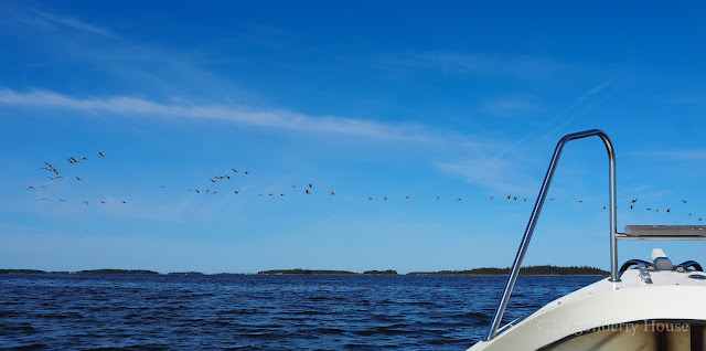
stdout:
[[620,277],[618,276],[618,225],[616,220],[616,152],[613,150],[613,145],[610,142],[608,135],[599,129],[585,130],[579,132],[569,134],[564,136],[561,140],[556,145],[556,149],[554,150],[554,157],[552,157],[552,162],[549,163],[549,169],[547,170],[547,174],[544,178],[544,183],[542,184],[542,190],[539,190],[539,195],[537,196],[537,202],[534,204],[534,210],[532,210],[532,216],[530,216],[530,222],[527,223],[527,228],[525,230],[525,235],[522,237],[522,242],[520,244],[520,249],[517,249],[517,255],[515,256],[515,262],[512,265],[512,269],[510,269],[510,275],[507,276],[507,284],[505,285],[505,290],[503,291],[503,296],[500,299],[500,304],[498,304],[498,309],[495,310],[495,316],[490,323],[490,329],[488,330],[488,336],[485,337],[485,341],[490,341],[495,338],[498,333],[498,328],[503,319],[503,313],[505,312],[505,307],[507,307],[507,301],[510,300],[510,295],[512,294],[512,289],[515,286],[515,281],[517,280],[517,274],[520,273],[520,267],[522,266],[522,259],[525,257],[525,253],[527,252],[527,246],[530,246],[530,240],[532,238],[532,233],[534,233],[534,227],[537,224],[537,219],[539,217],[539,212],[542,212],[542,206],[544,205],[544,201],[547,196],[547,191],[549,190],[549,184],[552,184],[552,179],[554,178],[554,172],[556,171],[556,167],[559,162],[559,157],[561,156],[561,150],[564,146],[576,139],[582,139],[587,137],[598,136],[603,140],[606,145],[606,149],[608,150],[608,159],[609,159],[609,187],[610,187],[610,280],[611,281],[620,281]]

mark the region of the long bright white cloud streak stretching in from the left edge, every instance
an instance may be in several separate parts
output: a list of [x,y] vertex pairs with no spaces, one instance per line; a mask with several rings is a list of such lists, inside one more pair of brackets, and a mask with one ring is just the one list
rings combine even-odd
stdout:
[[220,120],[266,128],[341,134],[379,139],[411,141],[431,140],[428,130],[414,124],[379,121],[338,116],[313,117],[284,109],[255,109],[228,105],[168,105],[142,98],[114,96],[108,98],[75,98],[63,94],[31,91],[20,93],[0,89],[0,104],[39,108],[62,108],[85,113],[110,113],[130,117],[151,117]]

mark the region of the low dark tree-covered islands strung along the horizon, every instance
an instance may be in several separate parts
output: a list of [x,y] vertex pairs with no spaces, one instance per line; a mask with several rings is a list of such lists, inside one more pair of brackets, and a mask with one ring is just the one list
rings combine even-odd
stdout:
[[[0,274],[131,274],[131,275],[159,275],[159,272],[148,269],[87,269],[79,272],[44,272],[40,269],[0,269]],[[261,270],[258,275],[367,275],[367,276],[398,276],[397,270],[365,270],[355,273],[349,270],[331,270],[331,269],[270,269]],[[506,276],[510,274],[510,267],[495,268],[483,267],[464,270],[439,270],[439,272],[410,272],[408,276]],[[171,272],[168,275],[179,276],[202,276],[201,272]],[[237,273],[218,273],[215,275],[242,275]],[[608,272],[589,266],[527,266],[520,269],[521,276],[608,276]]]

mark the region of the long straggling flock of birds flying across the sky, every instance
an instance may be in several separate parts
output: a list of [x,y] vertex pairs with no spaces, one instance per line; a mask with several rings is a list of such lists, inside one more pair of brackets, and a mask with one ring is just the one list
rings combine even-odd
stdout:
[[[98,152],[98,157],[99,157],[99,158],[105,158],[106,156],[107,156],[107,153]],[[79,162],[82,162],[82,161],[87,161],[87,160],[88,160],[88,158],[86,158],[86,157],[81,157],[79,159],[76,159],[76,158],[74,158],[74,157],[68,157],[68,158],[66,158],[66,160],[68,161],[68,163],[69,163],[69,164],[76,164],[76,163],[79,163]],[[45,170],[45,171],[49,171],[49,172],[51,172],[51,173],[52,173],[52,176],[47,177],[51,181],[56,181],[56,180],[60,180],[60,179],[64,179],[64,178],[61,176],[62,171],[61,171],[58,168],[56,168],[56,167],[52,166],[52,164],[51,164],[51,163],[49,163],[49,162],[44,162],[44,163],[46,164],[46,167],[42,167],[41,169],[42,169],[42,170]],[[231,170],[233,171],[233,173],[229,173],[229,172],[228,172],[227,174],[216,176],[216,177],[211,178],[211,179],[210,179],[211,183],[216,183],[216,182],[218,182],[218,181],[223,181],[223,180],[229,180],[232,176],[233,176],[233,177],[235,177],[235,174],[238,174],[238,173],[242,173],[242,174],[245,174],[245,176],[250,174],[250,171],[239,171],[239,170],[236,170],[235,168],[233,168],[233,169],[231,169]],[[82,178],[82,177],[76,176],[76,177],[75,177],[75,180],[76,180],[76,181],[82,181],[82,180],[83,180],[83,178]],[[40,187],[41,187],[42,189],[46,189],[49,185],[50,185],[50,184],[47,183],[47,184],[43,184],[43,185],[40,185]],[[164,188],[167,188],[167,185],[161,185],[161,187],[159,187],[159,188],[164,189]],[[298,188],[298,185],[291,185],[291,188],[292,188],[292,189],[297,189],[297,188]],[[303,185],[302,188],[303,188],[303,193],[304,193],[304,194],[310,195],[310,194],[312,194],[312,193],[313,193],[313,182],[308,183],[307,185]],[[28,190],[34,190],[34,189],[35,189],[35,187],[30,185],[30,187],[28,187],[26,189],[28,189]],[[217,194],[217,193],[218,193],[218,191],[217,191],[217,190],[211,190],[211,189],[186,189],[186,190],[188,190],[188,191],[191,191],[191,192],[194,192],[194,193],[204,193],[204,194],[208,194],[208,193],[210,193],[210,194]],[[228,191],[229,191],[229,190],[228,190]],[[239,193],[240,193],[240,190],[239,190],[239,189],[236,189],[236,190],[234,190],[234,191],[233,191],[233,193],[234,193],[234,194],[239,194]],[[284,198],[284,196],[285,196],[285,193],[271,193],[271,192],[269,192],[269,193],[258,193],[257,195],[258,195],[258,196],[263,196],[263,198],[265,198],[265,196],[277,196],[277,198]],[[333,192],[333,191],[329,191],[329,195],[330,195],[330,196],[333,196],[333,195],[335,195],[335,192]],[[382,196],[381,199],[382,199],[383,201],[386,201],[386,200],[387,200],[387,196]],[[410,199],[411,199],[411,196],[409,196],[409,195],[405,195],[403,199],[404,199],[404,200],[410,200]],[[435,201],[438,201],[438,200],[440,200],[440,199],[441,199],[440,196],[434,196],[434,200],[435,200]],[[494,199],[495,199],[495,196],[490,196],[490,199],[489,199],[489,200],[494,200]],[[46,201],[47,199],[46,199],[46,198],[41,198],[41,200],[42,200],[42,201]],[[367,196],[367,201],[373,201],[373,200],[374,200],[374,198],[373,198],[373,196]],[[518,195],[512,195],[512,194],[509,194],[509,195],[506,196],[506,200],[527,202],[527,199],[526,199],[526,198],[521,198],[521,196],[518,196]],[[549,199],[549,201],[554,201],[554,200],[555,200],[555,198],[550,198],[550,199]],[[66,202],[66,199],[58,199],[58,201],[60,201],[60,202]],[[456,198],[456,202],[460,202],[460,201],[462,201],[462,199],[461,199],[461,198]],[[105,203],[106,203],[106,201],[105,201],[105,200],[99,200],[99,202],[100,202],[100,203],[103,203],[103,204],[105,204]],[[681,202],[682,202],[683,204],[686,204],[686,200],[682,200]],[[125,200],[120,200],[120,203],[127,203],[127,201],[125,201]],[[584,201],[582,201],[582,200],[578,200],[578,203],[584,203]],[[630,208],[629,208],[629,209],[630,209],[630,210],[634,210],[634,209],[635,209],[635,203],[638,203],[638,198],[630,200]],[[87,200],[83,200],[83,201],[82,201],[82,204],[88,204],[88,201],[87,201]],[[606,206],[601,206],[601,210],[606,210]],[[660,212],[660,209],[645,208],[645,210],[646,210],[646,211],[653,211],[653,212]],[[667,208],[667,209],[665,209],[665,210],[663,209],[663,211],[662,211],[662,212],[663,212],[663,213],[672,213],[672,209],[671,209],[671,208]],[[685,212],[685,213],[686,213],[688,216],[693,216],[693,215],[694,215],[692,212]],[[700,222],[700,221],[703,221],[703,219],[702,219],[702,217],[698,217],[698,221]]]

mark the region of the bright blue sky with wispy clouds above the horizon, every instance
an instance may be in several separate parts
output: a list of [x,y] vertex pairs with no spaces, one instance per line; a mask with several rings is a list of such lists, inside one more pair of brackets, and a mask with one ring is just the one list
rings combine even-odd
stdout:
[[[557,140],[592,128],[621,230],[699,224],[704,10],[0,1],[0,267],[504,267]],[[525,264],[608,268],[599,139],[567,147],[549,196]],[[652,247],[705,258],[620,260]]]

